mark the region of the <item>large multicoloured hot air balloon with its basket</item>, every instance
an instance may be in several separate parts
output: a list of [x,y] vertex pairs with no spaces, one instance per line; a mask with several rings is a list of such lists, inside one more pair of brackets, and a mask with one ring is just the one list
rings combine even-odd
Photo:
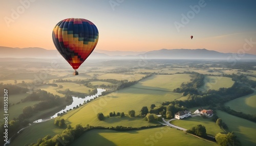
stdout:
[[94,23],[82,18],[61,20],[52,32],[55,47],[75,72],[93,52],[98,38],[99,32]]

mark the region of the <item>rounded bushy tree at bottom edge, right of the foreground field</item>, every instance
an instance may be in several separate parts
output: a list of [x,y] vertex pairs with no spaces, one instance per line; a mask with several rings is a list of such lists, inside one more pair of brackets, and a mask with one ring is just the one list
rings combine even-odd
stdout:
[[221,146],[234,145],[235,142],[237,141],[236,138],[237,138],[236,135],[230,132],[228,132],[228,134],[218,133],[215,136],[217,143]]

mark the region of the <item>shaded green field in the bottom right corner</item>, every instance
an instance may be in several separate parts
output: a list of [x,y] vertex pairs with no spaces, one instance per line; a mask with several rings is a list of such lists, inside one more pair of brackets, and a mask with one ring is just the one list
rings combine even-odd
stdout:
[[227,124],[229,131],[234,132],[242,145],[255,145],[256,123],[252,121],[230,115],[226,112],[217,111],[218,116]]

